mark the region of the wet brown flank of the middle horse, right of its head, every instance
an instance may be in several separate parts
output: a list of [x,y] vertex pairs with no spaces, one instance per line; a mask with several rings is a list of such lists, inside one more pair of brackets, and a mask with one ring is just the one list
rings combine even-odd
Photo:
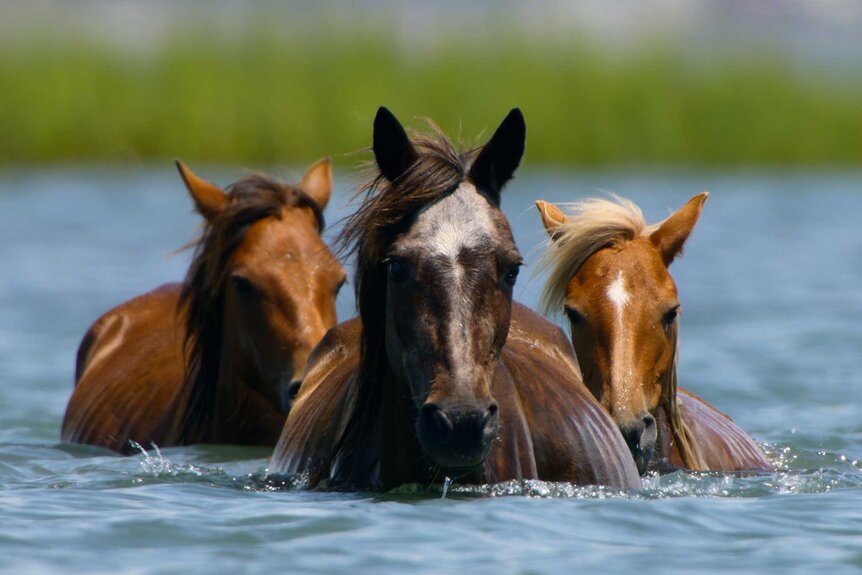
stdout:
[[584,386],[574,349],[562,330],[513,304],[503,361],[528,422],[541,479],[640,487],[631,453]]

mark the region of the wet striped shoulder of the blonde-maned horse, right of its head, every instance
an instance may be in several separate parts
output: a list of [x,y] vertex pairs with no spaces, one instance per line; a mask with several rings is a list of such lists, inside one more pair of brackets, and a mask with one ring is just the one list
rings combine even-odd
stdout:
[[716,471],[767,470],[772,465],[763,451],[730,416],[688,390],[679,389],[681,415],[705,463]]

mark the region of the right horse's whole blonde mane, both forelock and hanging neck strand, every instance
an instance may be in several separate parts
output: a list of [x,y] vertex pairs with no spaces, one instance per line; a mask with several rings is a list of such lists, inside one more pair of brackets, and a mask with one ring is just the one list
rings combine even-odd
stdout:
[[[540,305],[545,315],[559,313],[566,299],[566,290],[572,277],[584,262],[597,251],[647,237],[661,227],[662,222],[647,224],[641,209],[627,198],[612,194],[610,198],[589,198],[580,202],[561,204],[566,220],[552,230],[553,238],[539,260],[538,270],[547,269],[548,280],[542,291]],[[689,469],[707,469],[703,456],[685,423],[677,398],[677,350],[675,339],[673,368],[662,382],[661,407],[668,414],[672,440],[677,441],[683,463]]]

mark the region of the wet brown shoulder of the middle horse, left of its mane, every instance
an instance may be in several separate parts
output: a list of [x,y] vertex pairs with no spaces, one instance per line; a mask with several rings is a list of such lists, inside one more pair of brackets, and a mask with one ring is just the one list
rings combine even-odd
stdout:
[[354,400],[361,333],[358,318],[346,321],[330,329],[311,352],[305,379],[273,452],[274,473],[307,473],[327,463]]

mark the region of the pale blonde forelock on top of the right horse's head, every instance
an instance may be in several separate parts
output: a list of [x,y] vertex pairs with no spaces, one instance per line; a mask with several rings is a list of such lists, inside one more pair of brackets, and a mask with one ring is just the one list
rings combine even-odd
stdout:
[[647,225],[641,209],[626,198],[590,198],[560,204],[566,221],[552,230],[553,239],[539,260],[538,270],[550,270],[540,306],[545,315],[560,313],[566,288],[587,259],[600,249],[648,236],[661,223]]

